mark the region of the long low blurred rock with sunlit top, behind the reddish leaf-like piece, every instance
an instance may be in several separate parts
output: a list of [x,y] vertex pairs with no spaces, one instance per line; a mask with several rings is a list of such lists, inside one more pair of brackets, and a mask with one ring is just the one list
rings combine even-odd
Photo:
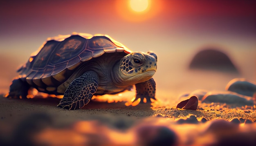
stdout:
[[226,104],[236,104],[237,106],[253,106],[254,101],[250,97],[245,97],[229,91],[211,91],[202,98],[202,102],[219,102]]

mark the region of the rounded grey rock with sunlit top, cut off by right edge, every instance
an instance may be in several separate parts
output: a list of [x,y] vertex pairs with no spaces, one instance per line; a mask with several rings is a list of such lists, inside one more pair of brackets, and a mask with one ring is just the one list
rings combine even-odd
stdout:
[[235,78],[227,84],[226,90],[253,97],[256,93],[256,84],[244,78]]

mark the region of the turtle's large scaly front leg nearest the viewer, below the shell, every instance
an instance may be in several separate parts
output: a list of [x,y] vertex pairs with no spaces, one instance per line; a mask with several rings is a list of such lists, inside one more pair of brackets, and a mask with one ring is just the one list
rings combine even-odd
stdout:
[[67,87],[57,107],[76,110],[88,104],[98,88],[99,76],[94,71],[83,73]]

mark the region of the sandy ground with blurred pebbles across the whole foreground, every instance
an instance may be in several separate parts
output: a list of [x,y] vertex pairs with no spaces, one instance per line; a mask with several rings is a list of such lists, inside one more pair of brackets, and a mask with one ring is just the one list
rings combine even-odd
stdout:
[[[1,95],[0,137],[2,144],[221,145],[223,143],[220,138],[220,135],[223,136],[221,127],[224,125],[224,133],[229,133],[224,134],[224,137],[231,135],[233,139],[241,133],[247,134],[249,136],[244,140],[239,139],[239,142],[250,145],[248,140],[254,139],[253,135],[256,133],[255,105],[236,107],[199,102],[198,109],[193,111],[178,110],[175,105],[173,108],[152,106],[154,104],[126,106],[125,102],[91,101],[83,109],[69,111],[56,107],[59,100],[53,97],[27,100],[7,99]],[[167,128],[168,131],[162,128]],[[92,133],[95,139],[88,140],[88,135]],[[23,138],[17,138],[15,135]],[[164,139],[163,135],[167,135],[167,139]],[[79,137],[83,137],[82,140],[79,140]],[[170,141],[170,137],[173,140]],[[150,141],[152,138],[156,143]]]

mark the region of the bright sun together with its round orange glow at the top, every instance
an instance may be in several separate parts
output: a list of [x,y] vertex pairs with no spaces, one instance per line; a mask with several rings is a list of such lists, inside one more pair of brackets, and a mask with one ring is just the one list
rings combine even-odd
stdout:
[[142,22],[155,17],[161,10],[158,0],[117,0],[116,8],[121,18],[130,22]]

